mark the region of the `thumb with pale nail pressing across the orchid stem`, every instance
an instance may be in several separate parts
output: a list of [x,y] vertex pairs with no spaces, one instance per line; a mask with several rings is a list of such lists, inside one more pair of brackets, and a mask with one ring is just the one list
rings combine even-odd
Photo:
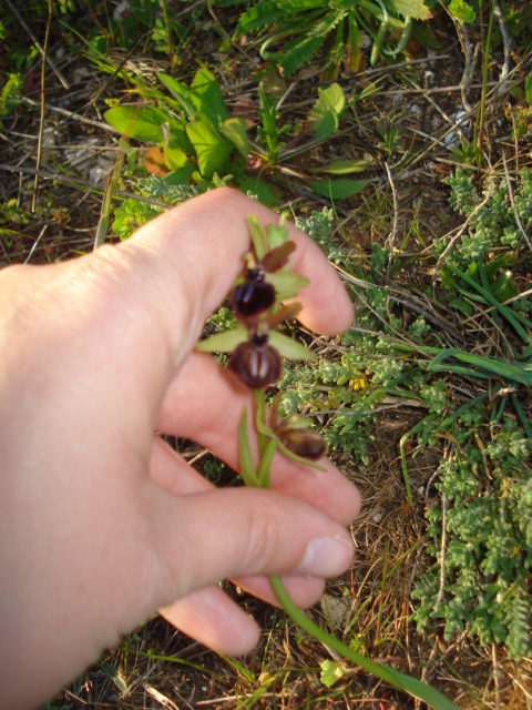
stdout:
[[234,577],[336,577],[352,560],[348,531],[290,496],[258,488],[153,494],[152,539],[171,580],[158,606]]

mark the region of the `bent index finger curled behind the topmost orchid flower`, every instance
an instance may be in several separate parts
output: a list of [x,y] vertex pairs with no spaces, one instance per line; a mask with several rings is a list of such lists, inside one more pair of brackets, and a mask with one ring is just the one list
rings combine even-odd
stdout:
[[[264,224],[279,223],[279,215],[255,200],[222,187],[183,203],[142,227],[125,248],[143,248],[150,257],[158,255],[157,270],[174,284],[184,281],[192,294],[193,316],[205,320],[227,295],[242,272],[242,254],[249,248],[246,217],[256,215]],[[352,306],[344,286],[317,244],[287,223],[296,244],[290,268],[310,281],[298,301],[298,320],[313,331],[334,335],[352,322]]]

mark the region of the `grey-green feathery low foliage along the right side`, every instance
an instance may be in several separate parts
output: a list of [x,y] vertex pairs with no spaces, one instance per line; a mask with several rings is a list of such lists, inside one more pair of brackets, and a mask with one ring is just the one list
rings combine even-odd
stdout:
[[406,496],[417,505],[407,449],[413,446],[416,456],[438,446],[434,487],[443,504],[427,515],[434,562],[416,582],[413,618],[420,629],[443,622],[446,639],[466,630],[481,643],[502,642],[519,659],[532,650],[532,424],[523,406],[532,386],[532,323],[522,293],[532,258],[530,171],[510,184],[493,180],[479,194],[472,178],[457,171],[450,200],[466,223],[460,239],[432,246],[439,297],[448,295],[459,321],[474,317],[485,333],[479,346],[472,338],[458,346],[438,308],[411,292],[407,303],[419,311],[405,328],[396,304],[406,303],[406,292],[382,283],[389,253],[374,250],[362,272],[330,236],[331,213],[298,220],[349,275],[357,315],[336,357],[284,373],[279,409],[314,412],[330,449],[369,463],[379,410],[416,405],[419,420],[399,443]]

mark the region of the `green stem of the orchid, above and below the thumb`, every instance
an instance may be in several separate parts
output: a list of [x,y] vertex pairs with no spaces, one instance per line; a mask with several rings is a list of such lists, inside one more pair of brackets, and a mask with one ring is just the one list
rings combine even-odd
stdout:
[[[264,392],[255,392],[255,425],[260,432],[266,430],[266,407]],[[269,465],[277,448],[276,437],[267,437],[259,434],[259,463],[257,469],[252,460],[249,442],[247,438],[247,410],[244,408],[238,433],[238,452],[241,457],[241,470],[243,473],[244,483],[246,485],[258,486],[260,488],[269,488]],[[269,438],[265,445],[265,439]],[[386,663],[376,663],[365,656],[360,656],[351,648],[342,643],[339,639],[324,631],[308,616],[296,607],[290,599],[283,582],[278,577],[269,577],[269,584],[279,605],[283,607],[287,616],[295,621],[301,629],[307,631],[317,641],[331,648],[334,651],[342,656],[346,660],[359,666],[368,673],[380,678],[390,686],[402,690],[418,700],[422,700],[434,710],[460,710],[458,706],[441,694],[436,688],[421,682],[417,678],[411,678],[405,673],[400,673]]]

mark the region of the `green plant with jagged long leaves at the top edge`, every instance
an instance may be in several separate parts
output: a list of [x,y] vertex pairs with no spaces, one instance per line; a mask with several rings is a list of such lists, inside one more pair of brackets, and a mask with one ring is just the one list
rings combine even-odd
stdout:
[[[381,53],[403,51],[412,21],[429,17],[422,0],[260,0],[241,16],[235,34],[238,38],[266,29],[260,55],[278,62],[287,77],[308,63],[330,39],[325,65],[326,73],[332,75],[344,59],[352,70],[358,68],[362,32],[372,40],[375,64]],[[277,51],[272,51],[274,48]]]

